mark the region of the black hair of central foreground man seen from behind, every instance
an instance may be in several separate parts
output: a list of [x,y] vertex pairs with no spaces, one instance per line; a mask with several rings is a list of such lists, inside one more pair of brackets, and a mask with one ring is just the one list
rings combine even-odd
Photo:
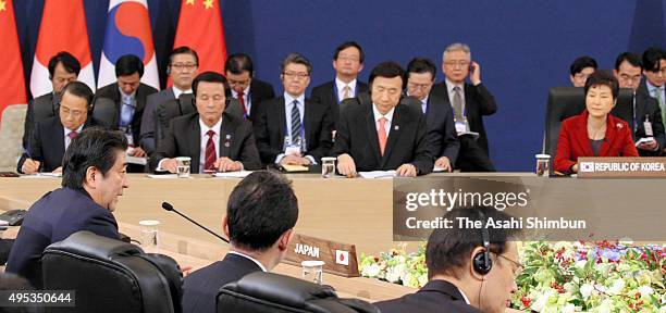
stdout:
[[292,183],[279,173],[251,173],[229,196],[226,218],[234,246],[266,251],[298,220]]

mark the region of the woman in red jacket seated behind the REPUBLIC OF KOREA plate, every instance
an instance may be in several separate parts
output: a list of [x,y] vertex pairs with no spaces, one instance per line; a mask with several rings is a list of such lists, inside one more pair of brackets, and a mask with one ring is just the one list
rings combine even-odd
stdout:
[[617,79],[596,71],[585,83],[585,111],[565,120],[557,140],[554,170],[578,173],[580,156],[638,156],[627,122],[609,114],[619,87]]

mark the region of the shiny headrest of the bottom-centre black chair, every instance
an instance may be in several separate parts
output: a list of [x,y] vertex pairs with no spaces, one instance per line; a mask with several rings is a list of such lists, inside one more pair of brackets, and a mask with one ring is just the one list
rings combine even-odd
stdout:
[[222,289],[292,308],[304,308],[310,300],[337,299],[335,290],[329,286],[266,272],[248,274],[236,283],[225,285]]

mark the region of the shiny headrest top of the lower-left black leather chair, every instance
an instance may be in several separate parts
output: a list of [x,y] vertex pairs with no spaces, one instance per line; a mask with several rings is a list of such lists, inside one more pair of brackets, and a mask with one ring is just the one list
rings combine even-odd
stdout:
[[65,240],[47,247],[45,253],[63,251],[110,261],[118,255],[135,255],[144,253],[141,248],[116,239],[97,236],[88,230],[70,235]]

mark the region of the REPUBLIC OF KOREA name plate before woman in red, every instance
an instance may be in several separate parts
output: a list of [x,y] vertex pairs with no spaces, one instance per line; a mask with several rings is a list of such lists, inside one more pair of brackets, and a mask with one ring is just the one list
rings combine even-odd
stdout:
[[578,177],[666,177],[666,158],[578,158]]

